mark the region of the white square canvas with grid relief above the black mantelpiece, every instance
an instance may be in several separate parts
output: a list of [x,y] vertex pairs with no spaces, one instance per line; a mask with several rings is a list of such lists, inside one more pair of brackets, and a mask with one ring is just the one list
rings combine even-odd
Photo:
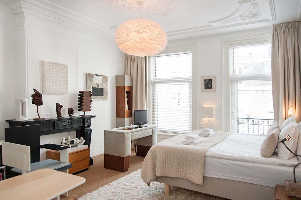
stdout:
[[42,61],[43,94],[68,93],[68,65]]

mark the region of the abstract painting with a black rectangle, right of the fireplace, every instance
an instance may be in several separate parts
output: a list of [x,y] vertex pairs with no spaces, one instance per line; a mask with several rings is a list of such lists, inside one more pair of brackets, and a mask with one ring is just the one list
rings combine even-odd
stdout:
[[108,76],[87,73],[87,90],[92,91],[92,100],[108,100]]

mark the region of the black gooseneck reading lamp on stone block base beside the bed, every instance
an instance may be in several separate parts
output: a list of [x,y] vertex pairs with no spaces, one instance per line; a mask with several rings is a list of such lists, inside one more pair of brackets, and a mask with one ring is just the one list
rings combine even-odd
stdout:
[[[298,154],[292,152],[286,146],[286,144],[284,142],[287,141],[287,140],[290,141],[290,140],[292,140],[292,138],[289,135],[285,135],[285,137],[279,143],[282,143],[292,154],[301,157],[301,155],[298,155]],[[285,188],[286,188],[287,195],[295,196],[295,197],[298,197],[298,198],[301,198],[301,192],[300,192],[301,191],[301,183],[300,182],[297,183],[297,181],[296,181],[295,170],[296,170],[296,167],[300,164],[301,164],[301,162],[299,162],[297,165],[295,165],[294,170],[293,170],[294,183],[293,183],[293,181],[285,180]]]

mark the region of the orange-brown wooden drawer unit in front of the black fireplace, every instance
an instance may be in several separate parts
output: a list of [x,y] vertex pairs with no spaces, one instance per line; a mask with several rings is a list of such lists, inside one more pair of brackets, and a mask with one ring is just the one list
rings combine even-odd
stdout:
[[[60,152],[48,150],[46,152],[47,159],[60,160]],[[72,168],[69,169],[69,174],[76,173],[89,168],[90,148],[80,149],[69,152],[69,163],[72,163]]]

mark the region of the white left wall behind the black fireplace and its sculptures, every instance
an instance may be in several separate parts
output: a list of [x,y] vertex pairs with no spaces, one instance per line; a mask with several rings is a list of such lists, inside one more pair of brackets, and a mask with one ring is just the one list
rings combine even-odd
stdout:
[[[8,127],[5,119],[15,118],[15,99],[27,98],[29,119],[37,117],[30,95],[33,88],[42,93],[42,60],[68,65],[68,94],[43,94],[39,113],[45,118],[56,117],[55,103],[64,106],[63,116],[68,115],[68,107],[77,110],[78,91],[87,89],[87,72],[109,76],[109,100],[93,101],[89,113],[96,115],[92,118],[91,156],[103,153],[104,130],[114,128],[116,123],[115,75],[125,73],[123,52],[115,42],[26,12],[12,14],[1,3],[0,139],[4,139],[4,128]],[[76,111],[75,115],[79,114]],[[41,136],[40,143],[59,143],[67,136],[75,137],[75,131]],[[45,157],[42,150],[41,159]]]

